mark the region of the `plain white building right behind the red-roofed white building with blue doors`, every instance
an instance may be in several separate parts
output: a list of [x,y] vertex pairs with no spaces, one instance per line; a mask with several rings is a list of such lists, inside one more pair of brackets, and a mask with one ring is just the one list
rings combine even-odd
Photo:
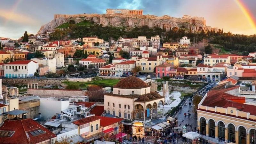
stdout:
[[43,64],[49,67],[49,72],[56,73],[57,60],[55,58],[34,58],[31,59],[39,64]]

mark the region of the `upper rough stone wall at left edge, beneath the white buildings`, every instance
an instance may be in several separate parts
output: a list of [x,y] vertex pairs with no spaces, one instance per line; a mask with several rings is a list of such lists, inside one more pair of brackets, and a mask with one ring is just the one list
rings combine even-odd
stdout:
[[38,83],[38,86],[46,86],[46,85],[61,85],[61,82],[66,81],[66,78],[43,78],[43,79],[35,79],[35,78],[4,78],[2,79],[2,83],[4,85],[15,86],[16,84],[27,85],[28,83]]

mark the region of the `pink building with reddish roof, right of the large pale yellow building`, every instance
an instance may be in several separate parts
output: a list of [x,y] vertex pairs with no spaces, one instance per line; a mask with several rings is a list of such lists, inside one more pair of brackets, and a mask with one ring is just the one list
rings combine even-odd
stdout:
[[164,76],[170,76],[174,77],[176,74],[176,70],[172,69],[172,65],[170,64],[161,64],[156,66],[156,77],[164,77]]

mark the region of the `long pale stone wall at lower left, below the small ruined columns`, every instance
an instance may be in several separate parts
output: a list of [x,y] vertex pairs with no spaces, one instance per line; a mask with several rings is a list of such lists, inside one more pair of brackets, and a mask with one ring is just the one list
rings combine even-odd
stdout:
[[28,89],[28,94],[39,97],[69,98],[71,96],[84,96],[82,90],[64,90],[64,89]]

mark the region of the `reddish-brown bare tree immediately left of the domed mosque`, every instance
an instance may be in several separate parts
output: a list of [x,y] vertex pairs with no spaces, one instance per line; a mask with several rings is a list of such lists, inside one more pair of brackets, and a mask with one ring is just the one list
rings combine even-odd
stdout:
[[101,86],[98,86],[98,85],[89,86],[85,94],[89,96],[89,99],[91,99],[91,101],[95,101],[95,102],[104,101],[104,90]]

